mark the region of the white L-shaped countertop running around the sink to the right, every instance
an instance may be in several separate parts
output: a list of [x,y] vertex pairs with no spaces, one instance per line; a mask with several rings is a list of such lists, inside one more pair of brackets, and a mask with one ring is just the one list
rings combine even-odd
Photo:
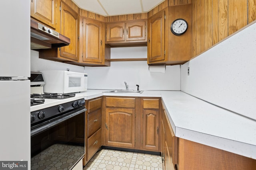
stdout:
[[[161,97],[176,137],[256,159],[256,121],[181,91],[145,90],[142,94],[104,93],[106,91],[87,90],[77,93],[75,98]],[[38,108],[40,105],[32,107]]]

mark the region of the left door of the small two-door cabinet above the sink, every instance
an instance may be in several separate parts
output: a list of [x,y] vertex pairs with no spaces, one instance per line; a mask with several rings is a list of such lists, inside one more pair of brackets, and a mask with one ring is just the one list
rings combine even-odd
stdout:
[[106,41],[124,41],[125,23],[106,23],[107,37]]

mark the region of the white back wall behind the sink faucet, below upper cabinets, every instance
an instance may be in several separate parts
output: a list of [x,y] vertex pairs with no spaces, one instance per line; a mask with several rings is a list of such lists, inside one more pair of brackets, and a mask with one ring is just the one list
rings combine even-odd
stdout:
[[[111,48],[111,59],[147,58],[147,47]],[[165,73],[149,72],[147,61],[115,61],[110,67],[85,67],[88,89],[180,90],[180,65],[166,66]]]

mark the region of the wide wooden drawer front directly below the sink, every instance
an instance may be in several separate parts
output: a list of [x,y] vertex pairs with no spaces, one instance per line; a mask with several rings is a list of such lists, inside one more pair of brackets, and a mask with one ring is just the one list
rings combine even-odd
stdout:
[[135,108],[135,98],[106,97],[106,107]]

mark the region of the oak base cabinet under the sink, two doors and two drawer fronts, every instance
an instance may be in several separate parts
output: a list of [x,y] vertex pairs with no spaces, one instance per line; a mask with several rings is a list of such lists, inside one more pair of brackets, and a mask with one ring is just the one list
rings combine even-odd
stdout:
[[106,97],[105,145],[159,152],[160,98]]

